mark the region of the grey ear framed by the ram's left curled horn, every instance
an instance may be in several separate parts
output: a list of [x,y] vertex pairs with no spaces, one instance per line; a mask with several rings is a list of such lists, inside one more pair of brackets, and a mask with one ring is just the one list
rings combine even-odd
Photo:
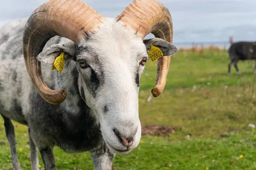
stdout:
[[65,44],[55,44],[49,46],[38,54],[36,59],[40,62],[52,65],[61,52],[65,53],[65,59],[73,59],[73,57],[76,55],[76,44],[73,41],[70,41]]

